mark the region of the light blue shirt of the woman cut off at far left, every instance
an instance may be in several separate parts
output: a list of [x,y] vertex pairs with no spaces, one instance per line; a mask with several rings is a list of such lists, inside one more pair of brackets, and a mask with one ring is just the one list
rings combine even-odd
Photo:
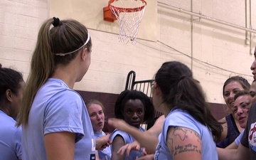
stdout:
[[21,159],[21,127],[0,110],[0,159]]

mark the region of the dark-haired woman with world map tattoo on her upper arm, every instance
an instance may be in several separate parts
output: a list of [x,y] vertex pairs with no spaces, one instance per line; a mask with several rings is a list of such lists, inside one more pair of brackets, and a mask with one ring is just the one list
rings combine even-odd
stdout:
[[164,113],[155,160],[218,159],[221,124],[210,114],[202,88],[183,63],[161,65],[152,84],[154,108]]

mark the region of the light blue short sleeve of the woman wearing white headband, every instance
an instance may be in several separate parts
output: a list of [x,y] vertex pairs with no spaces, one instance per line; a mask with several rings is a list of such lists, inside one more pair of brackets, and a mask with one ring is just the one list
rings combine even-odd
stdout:
[[73,132],[76,139],[84,135],[82,127],[82,102],[80,96],[70,90],[58,92],[47,102],[44,134]]

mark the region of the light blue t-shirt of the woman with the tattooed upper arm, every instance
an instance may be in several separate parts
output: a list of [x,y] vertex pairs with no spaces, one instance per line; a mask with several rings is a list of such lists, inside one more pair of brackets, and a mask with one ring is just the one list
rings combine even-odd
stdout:
[[173,156],[167,146],[167,132],[169,127],[186,127],[193,129],[199,134],[202,142],[202,159],[203,160],[218,160],[218,152],[216,144],[213,141],[213,134],[208,127],[194,119],[188,112],[183,110],[172,110],[164,120],[164,126],[159,135],[159,144],[156,146],[155,160],[171,160]]

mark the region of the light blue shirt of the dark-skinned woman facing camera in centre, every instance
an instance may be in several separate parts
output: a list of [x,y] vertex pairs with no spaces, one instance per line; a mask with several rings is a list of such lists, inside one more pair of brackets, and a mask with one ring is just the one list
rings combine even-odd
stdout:
[[[141,132],[144,132],[145,129],[142,127],[139,127],[139,130]],[[132,137],[130,134],[127,134],[127,132],[122,132],[118,129],[114,129],[114,132],[112,132],[110,136],[110,140],[114,140],[114,137],[117,137],[117,135],[121,136],[124,139],[124,144],[130,144],[135,141],[134,137]],[[129,156],[124,156],[124,160],[135,160],[142,156],[142,149],[139,151],[130,151]],[[126,153],[124,153],[126,155]]]

